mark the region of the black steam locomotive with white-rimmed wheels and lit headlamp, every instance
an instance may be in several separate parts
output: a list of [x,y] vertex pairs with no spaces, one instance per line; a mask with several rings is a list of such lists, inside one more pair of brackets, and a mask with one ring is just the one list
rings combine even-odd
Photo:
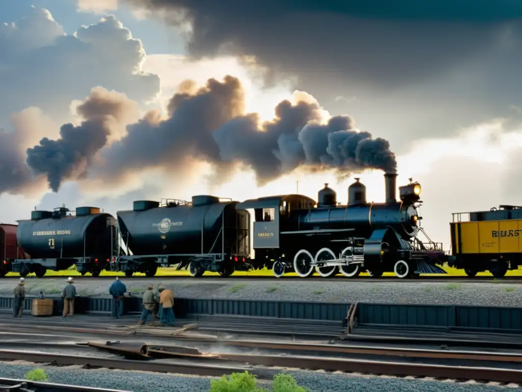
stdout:
[[[305,278],[314,273],[341,272],[372,276],[393,271],[399,278],[419,273],[446,273],[441,244],[422,243],[417,207],[421,186],[411,182],[399,188],[396,174],[385,174],[386,202],[366,202],[366,187],[356,179],[348,188],[348,204],[338,205],[336,192],[325,188],[318,202],[303,195],[248,200],[236,209],[254,209],[256,264],[271,267],[274,275],[295,271]],[[264,262],[263,262],[264,261]]]

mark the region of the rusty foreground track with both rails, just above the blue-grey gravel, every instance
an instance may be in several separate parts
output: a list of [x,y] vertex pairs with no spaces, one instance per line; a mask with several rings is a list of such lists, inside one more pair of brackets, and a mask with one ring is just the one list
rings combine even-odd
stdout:
[[[259,344],[259,342],[251,342]],[[91,343],[92,344],[92,343]],[[105,343],[98,344],[103,349]],[[115,345],[106,345],[106,349],[117,351]],[[437,355],[426,350],[411,350],[394,348],[355,348],[366,350],[365,355],[372,359],[339,358],[315,355],[281,355],[278,354],[219,354],[211,355],[194,353],[190,349],[185,352],[180,347],[151,346],[143,350],[143,343],[127,343],[121,347],[121,354],[127,356],[129,351],[136,350],[140,360],[121,358],[101,358],[96,355],[57,354],[25,350],[0,350],[0,358],[4,361],[29,361],[33,363],[49,363],[57,366],[80,365],[88,368],[110,368],[129,371],[148,371],[161,373],[180,373],[200,376],[221,376],[232,372],[245,370],[255,374],[258,378],[270,379],[281,370],[311,370],[326,372],[345,372],[363,374],[386,374],[390,376],[434,377],[443,379],[473,379],[475,381],[495,381],[500,383],[519,383],[522,380],[519,355],[503,355],[501,353],[452,353],[460,355],[461,361],[470,361],[476,366],[462,366],[455,364],[420,363],[434,358],[442,358],[446,363],[451,362],[448,353]],[[138,349],[139,347],[139,349]],[[288,349],[288,343],[284,346]],[[293,350],[296,348],[294,347]],[[348,348],[343,348],[347,350]],[[301,350],[301,349],[299,349]],[[310,350],[307,347],[306,350]],[[317,350],[317,348],[316,348]],[[395,360],[383,360],[395,355]],[[406,355],[406,356],[405,356]],[[420,356],[421,355],[421,356]],[[446,356],[441,356],[446,355]],[[209,363],[210,361],[210,363]],[[518,368],[509,368],[507,363]],[[480,366],[480,364],[483,364]],[[273,367],[278,367],[277,370]]]

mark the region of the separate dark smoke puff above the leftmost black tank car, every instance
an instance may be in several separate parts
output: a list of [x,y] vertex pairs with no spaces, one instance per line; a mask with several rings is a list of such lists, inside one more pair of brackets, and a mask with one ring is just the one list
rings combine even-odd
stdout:
[[64,180],[87,176],[96,154],[111,136],[122,134],[122,125],[136,113],[137,104],[123,94],[95,88],[76,111],[85,119],[81,125],[64,124],[60,139],[44,137],[27,149],[27,165],[35,174],[46,175],[54,192]]

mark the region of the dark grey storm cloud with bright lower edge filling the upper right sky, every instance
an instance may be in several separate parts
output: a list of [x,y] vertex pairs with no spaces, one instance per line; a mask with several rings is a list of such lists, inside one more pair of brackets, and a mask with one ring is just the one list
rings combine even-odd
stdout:
[[399,153],[522,103],[519,2],[126,2],[183,31],[193,58],[254,57],[267,83],[292,77],[330,111],[382,129]]

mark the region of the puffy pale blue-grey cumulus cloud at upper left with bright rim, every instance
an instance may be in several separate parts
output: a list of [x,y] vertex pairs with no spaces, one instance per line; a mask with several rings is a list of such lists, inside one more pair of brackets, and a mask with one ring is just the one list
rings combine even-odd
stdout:
[[45,9],[0,25],[0,86],[8,97],[0,125],[10,113],[38,107],[57,121],[69,118],[69,103],[94,86],[122,91],[138,102],[155,97],[159,78],[141,71],[145,50],[114,16],[67,35]]

